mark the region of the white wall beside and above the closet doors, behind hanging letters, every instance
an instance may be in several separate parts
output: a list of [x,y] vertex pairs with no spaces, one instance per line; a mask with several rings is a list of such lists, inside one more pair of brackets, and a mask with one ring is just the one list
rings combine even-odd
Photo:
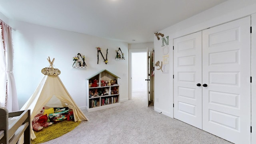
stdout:
[[[192,16],[187,20],[159,31],[164,34],[165,38],[166,36],[169,36],[169,45],[164,43],[164,46],[162,46],[162,40],[157,40],[155,36],[155,63],[158,60],[168,62],[168,64],[166,64],[168,74],[163,73],[160,70],[155,70],[154,109],[156,111],[173,117],[173,39],[248,16],[256,12],[255,8],[255,0],[228,0],[209,10]],[[160,38],[162,37],[160,36]],[[166,54],[168,50],[169,52]],[[169,56],[168,59],[166,59],[167,55]],[[169,81],[167,82],[167,80]]]

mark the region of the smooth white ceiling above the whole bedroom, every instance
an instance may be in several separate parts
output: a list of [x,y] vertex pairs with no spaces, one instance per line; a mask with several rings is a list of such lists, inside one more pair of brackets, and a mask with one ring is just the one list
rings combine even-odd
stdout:
[[134,44],[153,42],[155,32],[225,1],[1,0],[0,12],[11,20]]

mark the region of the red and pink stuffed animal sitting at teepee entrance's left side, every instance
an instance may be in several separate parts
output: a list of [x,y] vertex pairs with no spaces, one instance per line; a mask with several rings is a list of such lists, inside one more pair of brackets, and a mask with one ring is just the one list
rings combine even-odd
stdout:
[[32,128],[34,131],[38,132],[44,127],[52,125],[52,122],[47,122],[48,116],[44,115],[44,108],[34,117],[32,120]]

